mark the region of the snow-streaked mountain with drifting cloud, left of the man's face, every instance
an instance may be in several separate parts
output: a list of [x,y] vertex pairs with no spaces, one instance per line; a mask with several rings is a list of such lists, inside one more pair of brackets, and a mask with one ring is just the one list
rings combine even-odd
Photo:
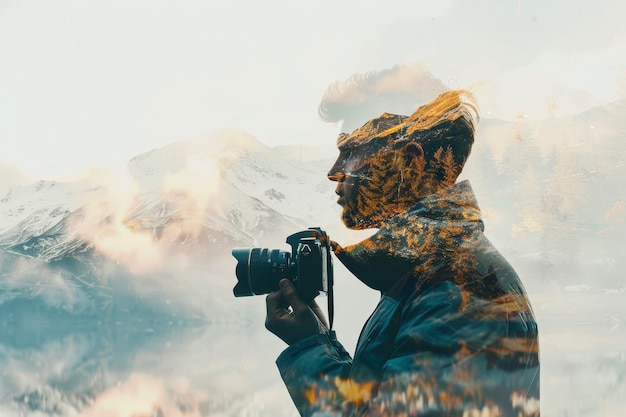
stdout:
[[233,247],[286,250],[286,236],[333,214],[332,161],[293,157],[229,129],[138,155],[125,174],[7,190],[0,310],[214,316],[234,285]]

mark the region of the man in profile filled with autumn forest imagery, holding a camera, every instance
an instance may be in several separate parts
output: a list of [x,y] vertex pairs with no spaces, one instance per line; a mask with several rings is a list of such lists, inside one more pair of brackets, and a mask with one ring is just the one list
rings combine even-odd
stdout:
[[288,280],[267,297],[266,327],[302,415],[538,416],[537,325],[525,290],[483,235],[468,182],[471,94],[450,91],[411,116],[383,114],[341,134],[344,224],[378,228],[337,258],[381,292],[354,358]]

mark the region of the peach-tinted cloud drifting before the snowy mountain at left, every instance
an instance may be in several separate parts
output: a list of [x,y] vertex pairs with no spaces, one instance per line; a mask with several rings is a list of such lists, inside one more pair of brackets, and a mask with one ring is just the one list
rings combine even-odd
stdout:
[[92,169],[87,181],[102,192],[86,202],[71,232],[135,275],[168,261],[184,264],[185,254],[173,246],[198,239],[207,211],[221,202],[218,161],[208,153],[190,152],[180,166],[157,174],[151,190],[126,171]]

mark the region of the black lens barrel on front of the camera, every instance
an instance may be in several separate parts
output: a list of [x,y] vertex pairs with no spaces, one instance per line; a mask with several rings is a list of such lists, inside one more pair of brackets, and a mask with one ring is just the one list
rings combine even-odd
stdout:
[[278,290],[278,281],[290,278],[289,258],[291,254],[279,249],[240,248],[233,249],[237,259],[235,274],[237,285],[235,297],[269,294]]

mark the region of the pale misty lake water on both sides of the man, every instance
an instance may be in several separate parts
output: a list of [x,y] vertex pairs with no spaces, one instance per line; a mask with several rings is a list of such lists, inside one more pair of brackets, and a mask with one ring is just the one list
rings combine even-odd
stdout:
[[[624,415],[624,293],[541,288],[533,295],[544,414]],[[282,345],[259,317],[263,300],[237,301],[232,306],[249,321],[148,327],[141,317],[98,323],[24,308],[20,321],[10,321],[3,311],[0,415],[296,416],[273,363]],[[353,321],[340,310],[338,332],[350,333]]]

